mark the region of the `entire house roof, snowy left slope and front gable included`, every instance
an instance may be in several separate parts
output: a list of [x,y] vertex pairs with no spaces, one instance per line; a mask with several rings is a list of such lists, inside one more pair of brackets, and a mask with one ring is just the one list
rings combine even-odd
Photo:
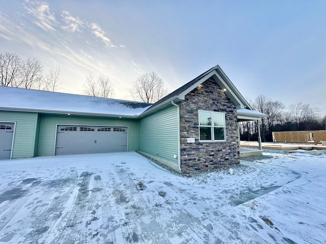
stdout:
[[189,92],[209,79],[226,89],[225,93],[237,108],[238,119],[266,116],[251,108],[220,66],[209,69],[154,104],[0,86],[0,110],[138,118],[171,105],[172,101],[183,101]]

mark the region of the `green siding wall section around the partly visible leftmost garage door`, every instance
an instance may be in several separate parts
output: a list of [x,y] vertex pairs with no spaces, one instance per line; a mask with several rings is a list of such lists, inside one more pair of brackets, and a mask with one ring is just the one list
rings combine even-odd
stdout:
[[12,158],[33,157],[37,113],[0,111],[0,121],[16,122]]

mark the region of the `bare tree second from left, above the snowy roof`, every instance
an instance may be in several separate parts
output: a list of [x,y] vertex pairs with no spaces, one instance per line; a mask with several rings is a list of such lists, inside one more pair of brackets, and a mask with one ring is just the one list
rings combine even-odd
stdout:
[[22,77],[20,81],[16,80],[16,87],[23,87],[26,89],[33,88],[33,85],[39,82],[42,76],[43,65],[40,60],[36,58],[28,58],[22,62]]

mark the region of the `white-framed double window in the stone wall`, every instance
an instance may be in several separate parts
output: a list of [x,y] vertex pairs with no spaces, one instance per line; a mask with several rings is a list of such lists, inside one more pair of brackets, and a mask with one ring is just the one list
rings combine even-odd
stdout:
[[199,140],[225,141],[225,114],[220,112],[198,111]]

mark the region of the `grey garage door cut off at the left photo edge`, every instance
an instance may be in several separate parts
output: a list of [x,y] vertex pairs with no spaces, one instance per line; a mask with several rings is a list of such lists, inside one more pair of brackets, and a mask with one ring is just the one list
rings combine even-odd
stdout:
[[14,123],[0,122],[0,159],[10,159]]

